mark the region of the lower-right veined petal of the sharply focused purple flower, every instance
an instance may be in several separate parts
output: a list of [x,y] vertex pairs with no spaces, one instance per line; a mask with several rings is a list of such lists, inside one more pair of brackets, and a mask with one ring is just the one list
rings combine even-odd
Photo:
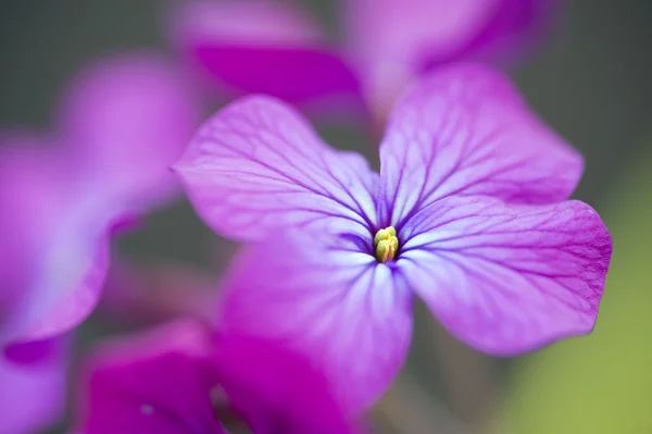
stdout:
[[516,355],[593,328],[612,240],[582,202],[450,198],[412,218],[401,235],[401,273],[476,349]]

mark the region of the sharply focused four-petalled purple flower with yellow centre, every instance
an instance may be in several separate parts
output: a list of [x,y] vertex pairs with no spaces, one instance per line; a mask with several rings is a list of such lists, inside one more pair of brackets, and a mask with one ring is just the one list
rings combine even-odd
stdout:
[[268,97],[209,120],[175,168],[208,224],[252,241],[222,325],[309,355],[353,412],[403,362],[414,295],[493,355],[595,322],[612,241],[565,201],[582,159],[485,66],[439,69],[400,99],[380,174]]

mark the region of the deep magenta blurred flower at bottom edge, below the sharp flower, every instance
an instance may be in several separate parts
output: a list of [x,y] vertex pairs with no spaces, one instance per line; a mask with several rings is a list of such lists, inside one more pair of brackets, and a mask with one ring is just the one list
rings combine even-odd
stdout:
[[326,380],[283,346],[179,320],[105,345],[82,385],[79,427],[102,433],[352,433]]

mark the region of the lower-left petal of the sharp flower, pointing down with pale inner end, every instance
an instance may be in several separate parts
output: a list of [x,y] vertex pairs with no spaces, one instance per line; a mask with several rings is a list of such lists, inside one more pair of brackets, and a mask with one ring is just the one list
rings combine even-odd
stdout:
[[304,355],[325,372],[349,414],[374,404],[405,358],[411,293],[390,266],[346,238],[278,236],[252,246],[224,285],[225,331]]

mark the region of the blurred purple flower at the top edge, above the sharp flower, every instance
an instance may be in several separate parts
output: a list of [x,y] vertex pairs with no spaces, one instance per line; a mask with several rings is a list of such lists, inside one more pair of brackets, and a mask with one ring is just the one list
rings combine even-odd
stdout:
[[[176,46],[220,90],[262,92],[330,114],[384,119],[432,66],[504,63],[531,46],[551,0],[341,0],[343,41],[297,5],[275,0],[189,1],[171,20]],[[344,103],[342,103],[344,102]]]

